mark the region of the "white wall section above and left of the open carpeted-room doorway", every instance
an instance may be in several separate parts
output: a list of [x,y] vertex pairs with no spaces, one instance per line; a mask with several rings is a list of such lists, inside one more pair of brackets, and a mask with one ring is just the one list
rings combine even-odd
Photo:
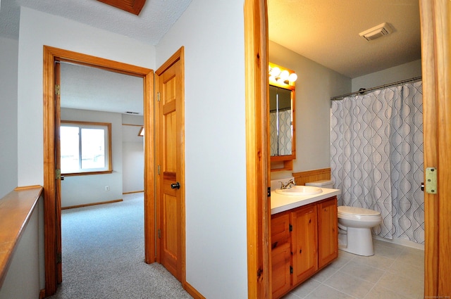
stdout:
[[[39,26],[37,26],[39,24]],[[18,184],[42,185],[43,46],[154,69],[155,47],[30,8],[20,9],[18,48]],[[32,125],[30,125],[32,124]]]

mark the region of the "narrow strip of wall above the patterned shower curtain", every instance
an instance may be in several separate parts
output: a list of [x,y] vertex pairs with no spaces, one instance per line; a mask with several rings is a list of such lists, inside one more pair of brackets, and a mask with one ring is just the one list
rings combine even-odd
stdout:
[[[352,79],[352,91],[421,76],[421,59]],[[339,94],[338,94],[339,96]]]

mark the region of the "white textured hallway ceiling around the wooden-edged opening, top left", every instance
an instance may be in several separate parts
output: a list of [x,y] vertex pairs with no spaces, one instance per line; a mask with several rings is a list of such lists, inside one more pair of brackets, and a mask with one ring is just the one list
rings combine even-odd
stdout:
[[191,0],[147,0],[140,15],[94,0],[1,0],[0,36],[18,38],[20,6],[158,44]]

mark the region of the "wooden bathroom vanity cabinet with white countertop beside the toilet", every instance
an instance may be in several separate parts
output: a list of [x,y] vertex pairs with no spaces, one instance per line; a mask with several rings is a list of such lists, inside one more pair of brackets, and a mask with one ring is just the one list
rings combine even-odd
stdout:
[[271,192],[273,298],[280,298],[338,257],[338,189],[304,196]]

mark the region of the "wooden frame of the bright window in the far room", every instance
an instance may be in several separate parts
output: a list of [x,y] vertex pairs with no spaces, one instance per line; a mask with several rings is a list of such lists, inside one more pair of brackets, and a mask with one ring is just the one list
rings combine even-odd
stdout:
[[[102,129],[106,129],[106,138],[108,140],[105,141],[105,169],[106,170],[95,170],[96,168],[89,168],[89,171],[79,171],[79,172],[63,172],[61,171],[61,174],[64,174],[64,176],[71,177],[71,176],[78,176],[78,175],[92,175],[92,174],[111,174],[113,173],[113,155],[111,150],[111,122],[84,122],[84,121],[77,121],[77,120],[61,120],[60,123],[60,139],[61,139],[61,127],[78,127],[83,129],[99,129],[101,127]],[[81,139],[81,137],[80,137]],[[61,143],[61,141],[59,141]],[[80,144],[81,146],[81,144]],[[60,145],[61,148],[61,145]],[[80,156],[82,155],[80,151]],[[61,149],[60,149],[60,159],[61,159]],[[61,163],[60,163],[61,164]],[[61,168],[61,165],[60,165]],[[94,171],[92,171],[94,170]]]

